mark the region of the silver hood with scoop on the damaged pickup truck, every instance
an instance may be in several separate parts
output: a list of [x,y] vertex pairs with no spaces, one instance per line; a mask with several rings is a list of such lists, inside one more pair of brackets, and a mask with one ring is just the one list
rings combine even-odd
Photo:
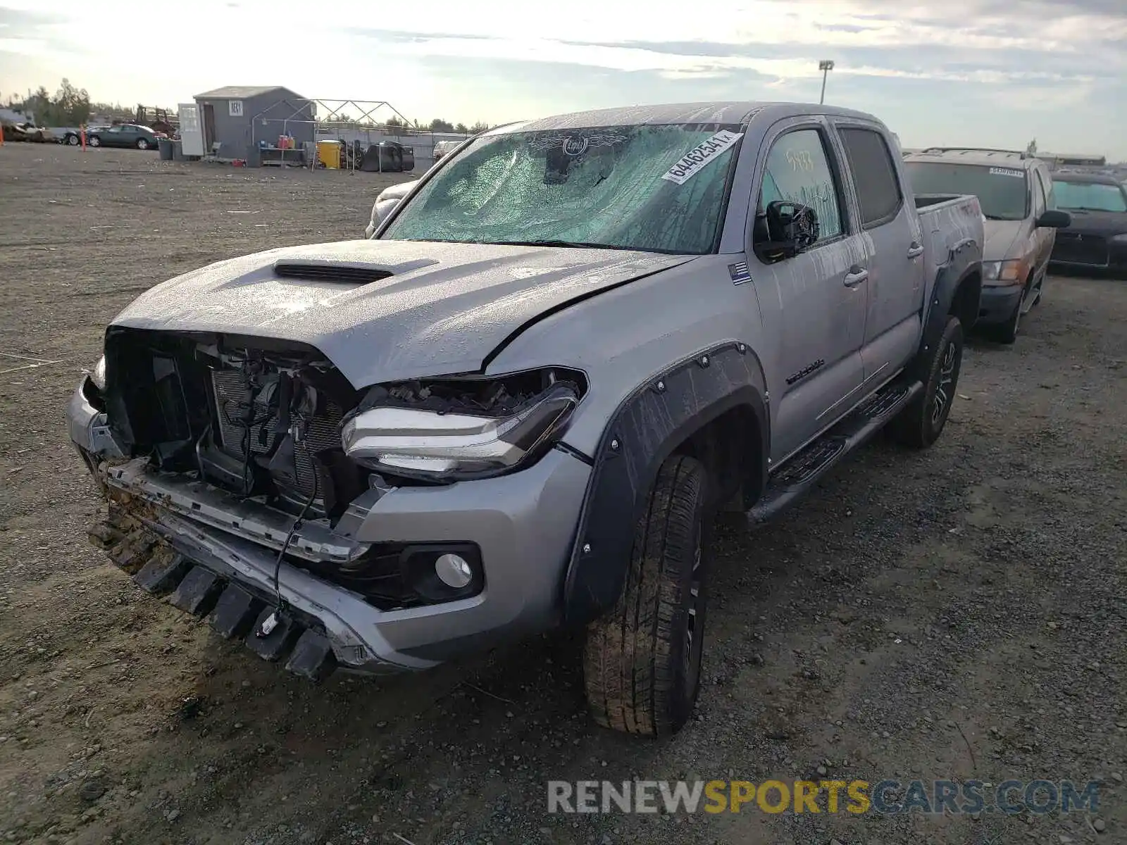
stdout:
[[[147,291],[113,326],[292,340],[355,388],[478,371],[530,321],[692,260],[615,249],[363,240],[219,261]],[[293,265],[312,266],[295,273]],[[286,277],[277,267],[290,266]],[[390,274],[356,282],[348,270]],[[325,278],[343,272],[343,278]],[[310,277],[290,277],[308,275]]]

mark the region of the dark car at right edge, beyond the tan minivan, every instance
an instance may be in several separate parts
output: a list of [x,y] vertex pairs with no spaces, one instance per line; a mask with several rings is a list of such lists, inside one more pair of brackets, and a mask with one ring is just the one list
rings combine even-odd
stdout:
[[1072,225],[1057,234],[1053,264],[1127,274],[1127,186],[1113,176],[1054,174],[1053,192]]

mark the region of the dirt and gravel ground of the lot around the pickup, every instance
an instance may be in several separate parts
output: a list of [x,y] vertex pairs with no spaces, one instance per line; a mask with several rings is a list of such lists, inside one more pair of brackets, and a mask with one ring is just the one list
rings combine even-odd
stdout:
[[[314,687],[89,546],[63,406],[207,261],[358,234],[372,175],[0,150],[0,837],[59,843],[1127,842],[1127,283],[974,343],[925,454],[876,443],[720,536],[696,721],[592,727],[578,638]],[[46,363],[43,363],[46,362]],[[30,366],[34,365],[34,366]],[[1097,812],[549,816],[548,779],[1102,781]]]

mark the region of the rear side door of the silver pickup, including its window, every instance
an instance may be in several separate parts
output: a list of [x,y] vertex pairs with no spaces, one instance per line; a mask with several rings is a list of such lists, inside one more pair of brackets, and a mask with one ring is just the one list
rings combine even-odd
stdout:
[[894,376],[920,344],[923,233],[915,204],[905,202],[885,133],[845,122],[837,124],[837,131],[868,250],[868,310],[861,347],[868,390]]

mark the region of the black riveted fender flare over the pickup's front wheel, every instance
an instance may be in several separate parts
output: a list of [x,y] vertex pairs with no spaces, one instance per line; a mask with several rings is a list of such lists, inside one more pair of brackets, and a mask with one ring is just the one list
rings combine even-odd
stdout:
[[747,344],[726,341],[695,353],[639,385],[618,407],[594,455],[578,528],[564,577],[564,621],[589,622],[622,592],[635,526],[657,471],[694,432],[726,411],[755,415],[765,481],[770,438],[763,367]]

